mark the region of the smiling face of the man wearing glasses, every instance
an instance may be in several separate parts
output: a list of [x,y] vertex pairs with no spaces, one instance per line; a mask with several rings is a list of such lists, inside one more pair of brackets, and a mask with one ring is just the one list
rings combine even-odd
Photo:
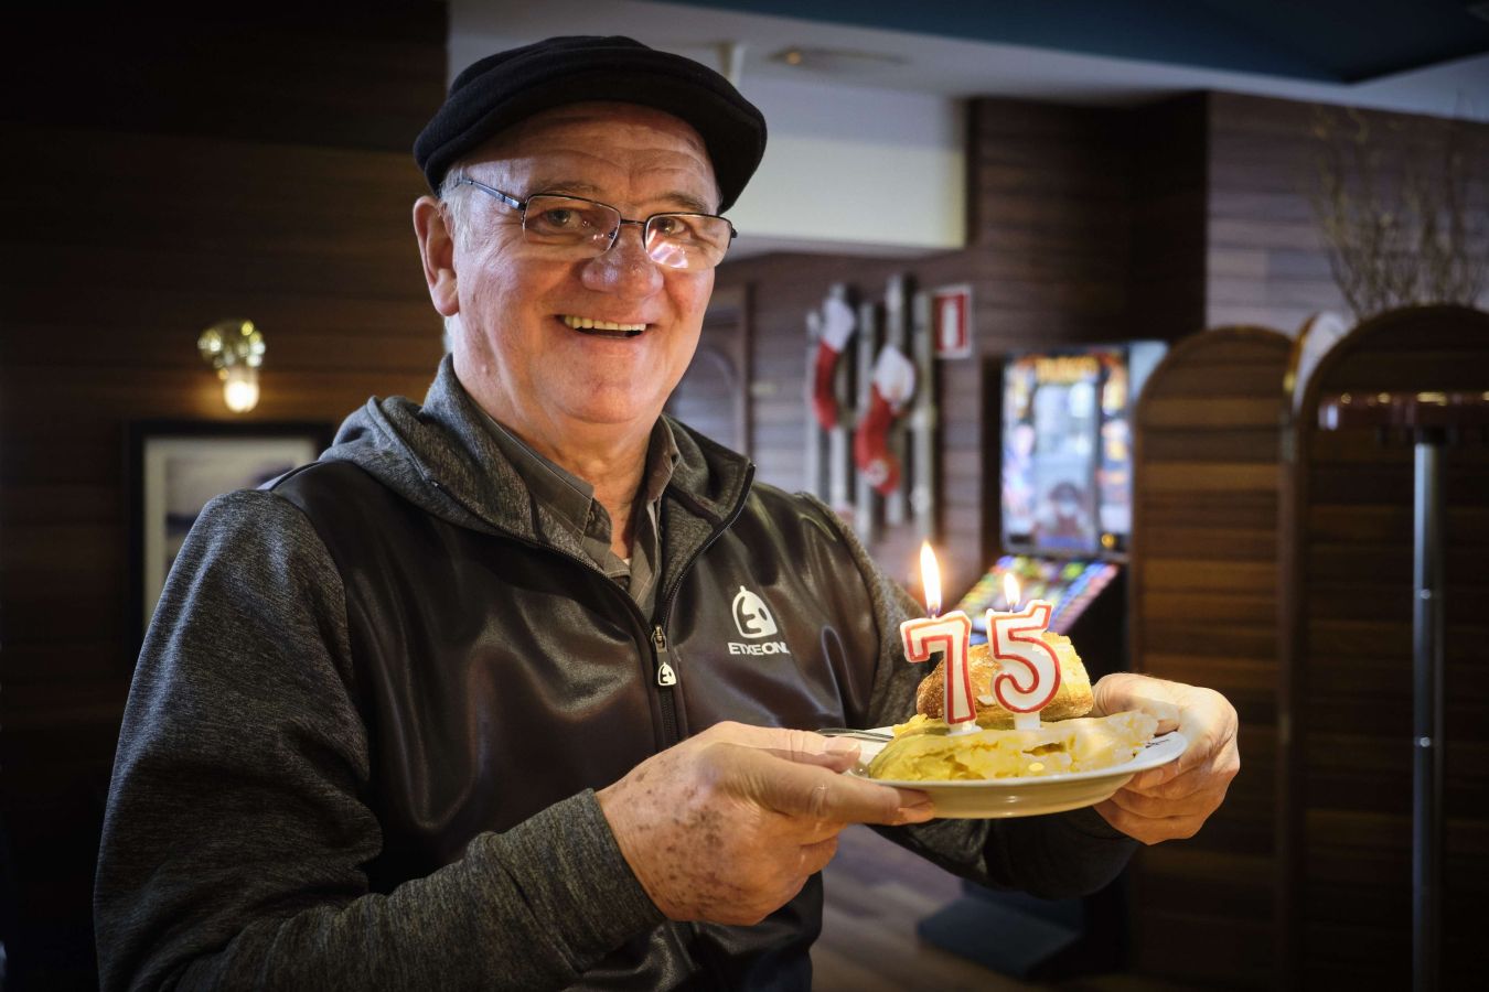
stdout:
[[[536,115],[460,173],[517,199],[570,193],[631,219],[707,213],[719,202],[697,131],[633,104]],[[454,363],[466,390],[541,446],[600,425],[649,431],[692,360],[713,269],[657,265],[636,225],[624,225],[599,257],[555,257],[524,239],[517,210],[471,186],[456,195],[469,198],[462,205],[468,231],[453,245],[451,266]]]

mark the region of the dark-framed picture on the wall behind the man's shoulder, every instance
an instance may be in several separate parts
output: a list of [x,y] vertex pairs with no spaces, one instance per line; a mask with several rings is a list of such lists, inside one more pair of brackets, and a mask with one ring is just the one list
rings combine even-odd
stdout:
[[130,613],[133,656],[165,577],[203,507],[314,461],[331,445],[325,422],[135,421],[130,424]]

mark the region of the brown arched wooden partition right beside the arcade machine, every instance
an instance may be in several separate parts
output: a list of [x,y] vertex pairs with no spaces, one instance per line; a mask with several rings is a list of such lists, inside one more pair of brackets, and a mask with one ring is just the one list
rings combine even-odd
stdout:
[[1138,402],[1132,668],[1222,692],[1242,772],[1196,837],[1132,869],[1133,967],[1215,986],[1272,977],[1282,384],[1292,341],[1218,327],[1173,345]]

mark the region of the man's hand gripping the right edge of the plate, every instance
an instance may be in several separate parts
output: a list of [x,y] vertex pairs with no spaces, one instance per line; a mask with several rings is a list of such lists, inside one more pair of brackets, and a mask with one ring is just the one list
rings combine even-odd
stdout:
[[1193,837],[1240,770],[1236,708],[1212,689],[1130,672],[1106,675],[1094,695],[1096,714],[1141,709],[1158,718],[1158,733],[1178,729],[1188,741],[1179,759],[1138,772],[1096,812],[1144,843]]

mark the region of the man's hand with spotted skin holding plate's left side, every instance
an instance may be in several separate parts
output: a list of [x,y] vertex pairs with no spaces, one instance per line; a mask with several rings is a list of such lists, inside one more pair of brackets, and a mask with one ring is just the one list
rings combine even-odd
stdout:
[[621,854],[670,919],[756,924],[837,852],[847,824],[929,819],[925,793],[840,775],[858,745],[721,723],[599,793]]

